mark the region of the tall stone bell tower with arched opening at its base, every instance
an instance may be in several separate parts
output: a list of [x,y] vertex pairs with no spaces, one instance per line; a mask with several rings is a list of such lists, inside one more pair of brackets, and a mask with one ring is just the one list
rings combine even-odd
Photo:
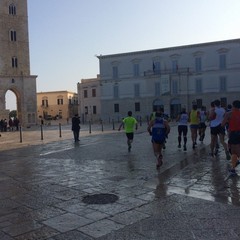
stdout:
[[36,124],[36,78],[30,74],[27,0],[0,0],[0,119],[8,119],[5,95],[10,90],[20,124]]

